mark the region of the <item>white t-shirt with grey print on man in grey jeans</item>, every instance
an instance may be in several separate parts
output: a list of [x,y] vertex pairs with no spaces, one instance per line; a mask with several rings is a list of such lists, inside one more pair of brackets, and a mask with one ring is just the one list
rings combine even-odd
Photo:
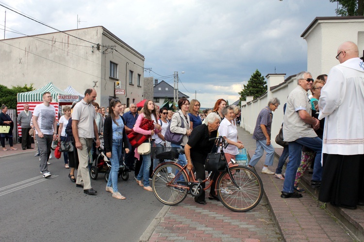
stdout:
[[[40,131],[44,135],[53,135],[53,121],[56,116],[56,109],[54,106],[45,106],[44,104],[38,104],[35,106],[33,111],[33,116],[38,117],[38,126]],[[38,134],[38,131],[35,130],[35,134]]]

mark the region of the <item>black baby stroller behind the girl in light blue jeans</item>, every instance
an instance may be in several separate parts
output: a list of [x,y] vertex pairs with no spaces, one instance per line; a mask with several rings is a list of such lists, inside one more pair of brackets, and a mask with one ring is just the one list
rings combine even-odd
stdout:
[[[92,161],[92,166],[90,168],[90,177],[93,180],[96,180],[98,178],[99,173],[105,173],[105,181],[109,181],[109,175],[111,170],[111,162],[109,158],[107,158],[106,154],[104,153],[104,142],[103,142],[103,136],[99,136],[100,139],[100,146],[97,148],[97,156]],[[96,139],[94,139],[93,142],[96,142]],[[121,176],[121,179],[124,181],[127,181],[129,179],[129,169],[127,166],[125,166],[125,163],[120,166],[118,177]]]

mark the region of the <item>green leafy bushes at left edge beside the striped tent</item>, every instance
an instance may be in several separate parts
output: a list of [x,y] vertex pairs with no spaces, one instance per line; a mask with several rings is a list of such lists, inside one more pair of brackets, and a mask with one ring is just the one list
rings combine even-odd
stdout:
[[33,90],[33,83],[29,87],[25,84],[23,87],[12,86],[11,89],[0,85],[0,105],[5,104],[9,109],[17,109],[17,93]]

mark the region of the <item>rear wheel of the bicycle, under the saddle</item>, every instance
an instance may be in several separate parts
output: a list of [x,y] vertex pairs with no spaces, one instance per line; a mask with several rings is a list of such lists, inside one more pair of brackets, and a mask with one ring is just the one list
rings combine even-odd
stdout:
[[[164,163],[153,172],[153,193],[165,205],[177,205],[187,196],[187,189],[171,186],[172,183],[170,182],[173,181],[173,184],[178,184],[178,181],[188,181],[184,172],[177,176],[181,170],[182,168],[174,163]],[[176,174],[176,177],[173,177],[173,174]]]

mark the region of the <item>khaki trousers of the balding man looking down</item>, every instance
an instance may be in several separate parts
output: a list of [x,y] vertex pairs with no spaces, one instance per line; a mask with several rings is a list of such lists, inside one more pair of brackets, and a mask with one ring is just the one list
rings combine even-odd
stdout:
[[76,184],[81,184],[83,180],[83,190],[91,189],[91,180],[90,180],[90,173],[88,171],[88,154],[91,151],[92,147],[92,138],[83,138],[79,137],[80,142],[82,144],[82,149],[77,149],[78,152],[78,171],[77,171],[77,178]]

